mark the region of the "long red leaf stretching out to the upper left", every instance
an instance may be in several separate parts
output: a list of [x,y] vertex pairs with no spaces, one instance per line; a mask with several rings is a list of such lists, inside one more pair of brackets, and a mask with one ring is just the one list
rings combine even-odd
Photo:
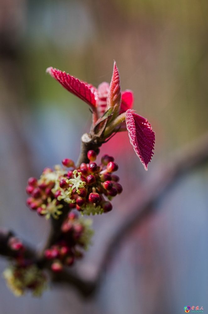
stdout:
[[52,67],[47,68],[46,72],[51,74],[69,92],[84,100],[91,107],[96,107],[98,95],[97,89],[93,85],[80,81],[78,78]]

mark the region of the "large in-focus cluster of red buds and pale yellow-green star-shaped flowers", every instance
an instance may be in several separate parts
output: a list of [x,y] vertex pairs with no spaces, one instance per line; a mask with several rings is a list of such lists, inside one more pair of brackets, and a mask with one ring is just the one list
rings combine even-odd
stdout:
[[66,205],[82,215],[109,212],[112,209],[109,201],[122,192],[119,177],[113,174],[118,165],[109,155],[104,155],[97,165],[96,157],[95,151],[89,150],[89,164],[82,163],[76,169],[72,160],[64,159],[63,167],[46,168],[39,180],[30,178],[26,187],[31,195],[27,199],[29,207],[46,219],[50,216],[57,219]]

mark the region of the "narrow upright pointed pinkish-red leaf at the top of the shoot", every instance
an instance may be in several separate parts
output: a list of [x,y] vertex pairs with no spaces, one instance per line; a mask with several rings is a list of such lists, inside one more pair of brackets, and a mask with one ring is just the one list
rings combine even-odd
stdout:
[[113,67],[113,76],[110,82],[110,89],[107,98],[107,107],[115,107],[115,111],[120,111],[120,102],[121,102],[121,91],[120,91],[120,77],[119,71],[116,66],[116,62],[114,62]]

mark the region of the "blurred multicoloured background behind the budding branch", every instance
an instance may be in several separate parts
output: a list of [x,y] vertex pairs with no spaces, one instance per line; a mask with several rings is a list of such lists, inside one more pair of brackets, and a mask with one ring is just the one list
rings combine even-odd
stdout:
[[[0,1],[0,226],[40,249],[48,222],[25,205],[29,176],[76,160],[91,113],[45,74],[52,66],[98,86],[110,82],[113,61],[122,90],[156,133],[146,173],[128,134],[101,153],[119,164],[124,187],[107,215],[94,218],[94,246],[76,267],[94,278],[104,246],[131,215],[128,196],[151,182],[157,162],[208,131],[208,3],[205,0]],[[156,169],[156,170],[155,170]],[[148,180],[147,180],[148,178]],[[147,186],[147,185],[146,185]],[[99,290],[84,300],[57,286],[41,299],[16,298],[0,279],[0,314],[184,313],[208,311],[208,165],[190,170],[155,202],[155,212],[125,237]],[[0,260],[0,271],[6,262]]]

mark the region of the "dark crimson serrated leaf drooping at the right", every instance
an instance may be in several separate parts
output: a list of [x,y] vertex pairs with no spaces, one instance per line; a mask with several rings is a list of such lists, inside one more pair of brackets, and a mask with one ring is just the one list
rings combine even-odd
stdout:
[[128,109],[126,111],[126,127],[130,143],[147,170],[147,165],[153,156],[152,150],[155,143],[155,133],[152,131],[151,124],[142,116]]

